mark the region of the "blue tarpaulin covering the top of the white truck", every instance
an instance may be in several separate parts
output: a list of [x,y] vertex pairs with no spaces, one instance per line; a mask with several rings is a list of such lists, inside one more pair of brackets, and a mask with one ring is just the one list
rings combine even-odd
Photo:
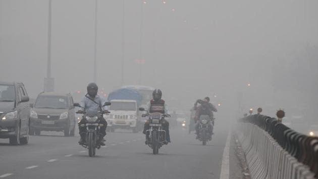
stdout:
[[111,92],[108,95],[108,101],[111,100],[135,100],[137,105],[141,105],[142,96],[135,89],[131,88],[120,88]]

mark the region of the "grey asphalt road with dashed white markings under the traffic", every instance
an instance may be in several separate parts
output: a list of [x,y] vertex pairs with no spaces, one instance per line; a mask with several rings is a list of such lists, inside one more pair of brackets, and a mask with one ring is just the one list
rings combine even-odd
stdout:
[[[77,144],[78,135],[63,137],[62,132],[31,136],[24,146],[0,140],[0,178],[220,178],[229,128],[226,122],[217,125],[206,146],[187,129],[171,129],[172,143],[158,155],[144,144],[142,133],[125,130],[108,133],[106,147],[96,150],[95,157]],[[226,156],[230,167],[223,170],[239,178],[233,153]]]

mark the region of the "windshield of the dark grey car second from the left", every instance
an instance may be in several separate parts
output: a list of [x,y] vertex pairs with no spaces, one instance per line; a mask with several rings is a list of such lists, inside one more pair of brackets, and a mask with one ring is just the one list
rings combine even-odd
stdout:
[[35,108],[67,109],[68,101],[66,97],[59,96],[39,96],[36,99]]

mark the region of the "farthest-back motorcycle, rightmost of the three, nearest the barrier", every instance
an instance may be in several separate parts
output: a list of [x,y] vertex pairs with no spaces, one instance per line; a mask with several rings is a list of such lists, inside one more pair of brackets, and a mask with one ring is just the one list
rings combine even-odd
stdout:
[[[209,128],[210,126],[212,127],[211,129]],[[198,140],[202,141],[203,146],[206,145],[207,141],[211,141],[210,131],[213,131],[213,126],[214,122],[211,122],[211,119],[208,115],[200,115]]]

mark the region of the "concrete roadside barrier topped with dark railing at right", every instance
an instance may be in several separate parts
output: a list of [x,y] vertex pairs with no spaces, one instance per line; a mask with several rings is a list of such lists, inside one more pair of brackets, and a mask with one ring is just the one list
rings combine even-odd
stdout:
[[237,126],[252,178],[318,178],[317,137],[259,114],[240,119]]

